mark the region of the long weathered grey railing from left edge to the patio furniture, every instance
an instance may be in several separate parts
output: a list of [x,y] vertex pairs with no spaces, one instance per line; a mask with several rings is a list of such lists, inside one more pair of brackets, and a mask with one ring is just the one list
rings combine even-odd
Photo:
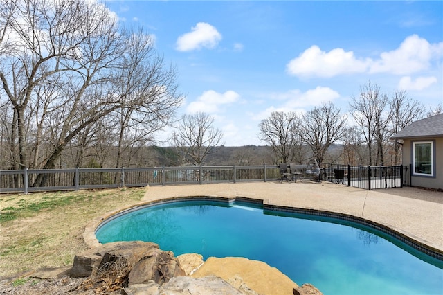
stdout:
[[[38,176],[46,178],[43,186],[37,184]],[[278,179],[280,173],[275,165],[0,170],[0,193]]]

